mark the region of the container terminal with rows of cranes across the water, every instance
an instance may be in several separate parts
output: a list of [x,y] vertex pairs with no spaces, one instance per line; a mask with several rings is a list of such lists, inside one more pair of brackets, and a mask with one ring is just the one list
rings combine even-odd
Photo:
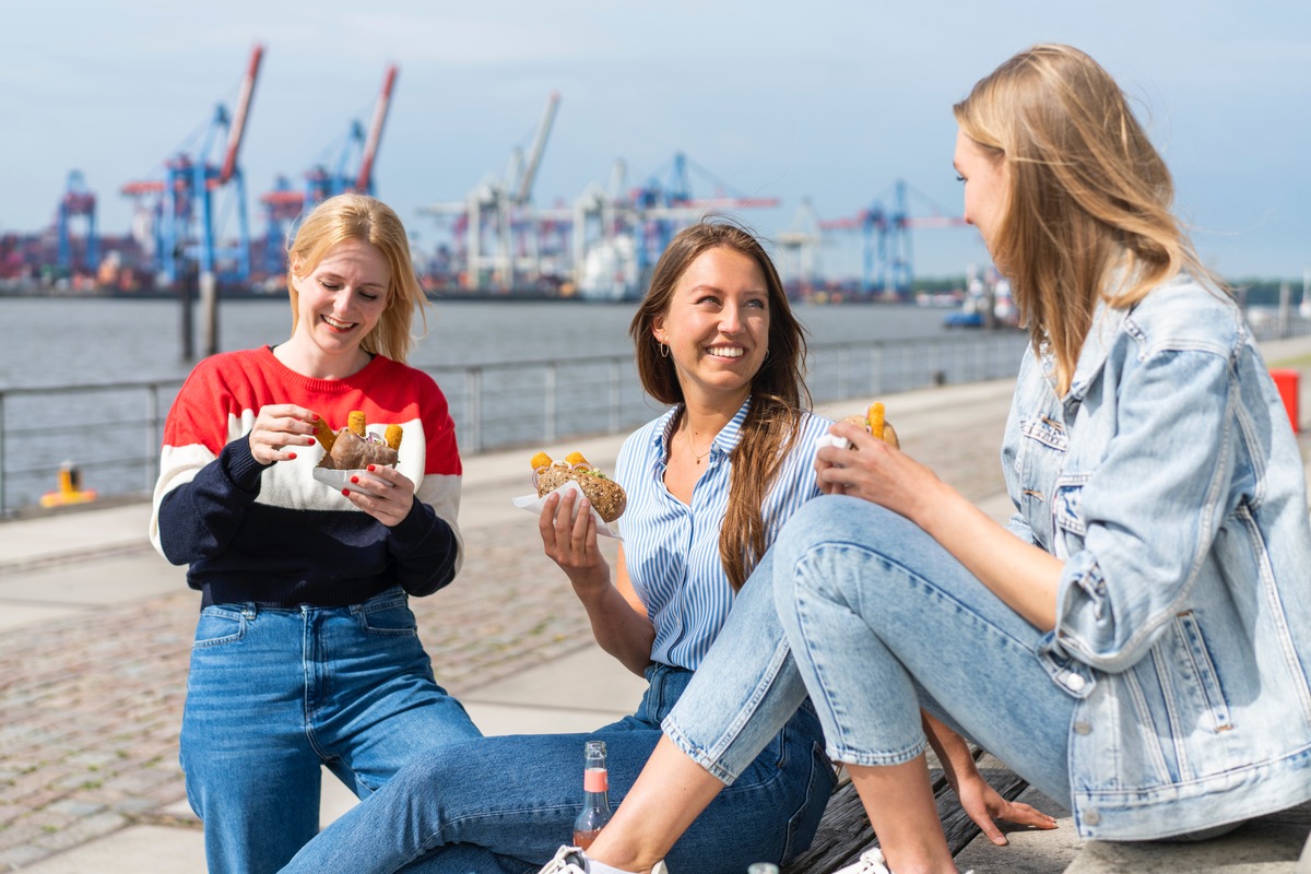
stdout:
[[[164,159],[151,178],[118,183],[117,194],[132,204],[126,232],[97,225],[100,195],[80,170],[69,170],[64,190],[52,193],[50,227],[0,235],[0,294],[190,291],[201,300],[284,294],[286,241],[299,216],[343,191],[374,193],[400,69],[384,69],[372,117],[367,124],[353,119],[343,126],[330,160],[278,174],[252,195],[252,181],[241,170],[244,134],[258,113],[257,90],[277,86],[260,79],[264,54],[262,45],[252,48],[236,105],[218,105],[195,142]],[[414,257],[433,297],[631,300],[641,295],[656,259],[680,228],[712,212],[749,216],[751,210],[781,206],[776,198],[732,190],[682,152],[637,182],[616,160],[606,185],[590,183],[572,202],[539,206],[534,186],[560,101],[558,93],[547,97],[531,145],[513,148],[502,172],[489,172],[463,198],[434,200],[422,210],[438,229],[438,242]],[[802,200],[792,225],[773,237],[789,294],[907,300],[911,231],[965,225],[932,204],[928,215],[911,215],[912,193],[898,180],[852,215],[831,220]],[[860,276],[829,279],[822,250],[844,236],[859,237]]]

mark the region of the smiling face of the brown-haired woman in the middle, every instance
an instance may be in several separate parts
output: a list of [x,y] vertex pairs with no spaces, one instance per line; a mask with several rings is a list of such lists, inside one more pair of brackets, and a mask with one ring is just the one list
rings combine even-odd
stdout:
[[669,346],[683,397],[734,411],[751,392],[770,343],[770,292],[760,266],[725,246],[703,252],[652,322]]

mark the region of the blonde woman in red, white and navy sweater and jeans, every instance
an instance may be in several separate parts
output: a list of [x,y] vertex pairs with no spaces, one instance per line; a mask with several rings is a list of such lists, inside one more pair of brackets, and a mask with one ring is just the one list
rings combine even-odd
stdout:
[[[277,871],[319,831],[321,767],[358,795],[480,736],[433,677],[409,596],[460,565],[446,398],[405,366],[423,292],[400,219],[323,202],[291,245],[291,335],[201,362],[164,428],[151,539],[201,591],[181,761],[211,871]],[[400,425],[395,468],[312,476],[330,430]]]

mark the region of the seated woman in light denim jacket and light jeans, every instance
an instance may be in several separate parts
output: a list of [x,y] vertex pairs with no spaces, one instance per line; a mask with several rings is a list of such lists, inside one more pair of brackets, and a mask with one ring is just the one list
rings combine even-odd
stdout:
[[805,689],[882,846],[850,874],[956,871],[920,706],[1068,802],[1086,839],[1223,831],[1311,798],[1303,465],[1165,165],[1067,46],[1016,55],[954,109],[965,218],[1033,339],[1002,453],[1009,531],[834,426],[852,447],[819,449],[827,494],[772,554],[796,668],[730,622],[703,674],[749,693],[722,713],[688,687],[594,861],[649,870]]

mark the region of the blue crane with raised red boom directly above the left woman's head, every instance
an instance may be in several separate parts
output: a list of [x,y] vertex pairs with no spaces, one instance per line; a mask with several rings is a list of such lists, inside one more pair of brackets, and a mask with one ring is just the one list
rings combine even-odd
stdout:
[[374,194],[374,165],[378,160],[378,147],[383,140],[383,127],[387,124],[397,72],[396,64],[388,64],[368,130],[366,131],[358,119],[350,123],[332,169],[323,162],[311,166],[305,170],[303,190],[294,189],[287,177],[279,176],[274,181],[273,190],[260,195],[265,218],[264,263],[270,274],[286,270],[287,240],[295,233],[296,223],[307,207],[347,191]]

